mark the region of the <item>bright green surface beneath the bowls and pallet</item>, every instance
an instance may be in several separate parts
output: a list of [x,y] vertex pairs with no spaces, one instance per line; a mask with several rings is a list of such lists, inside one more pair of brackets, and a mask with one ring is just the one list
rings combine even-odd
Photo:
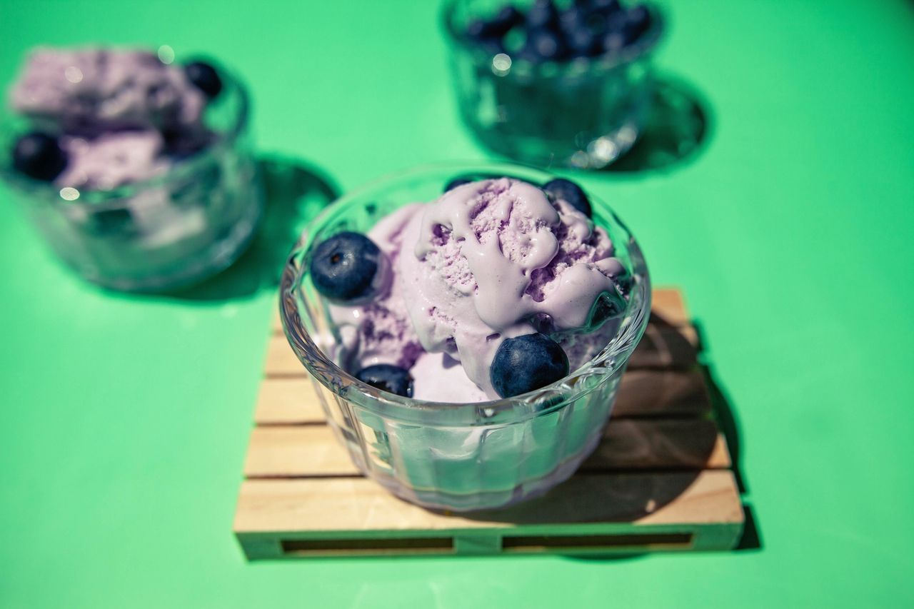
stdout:
[[[707,144],[579,179],[655,283],[685,288],[760,550],[248,564],[230,528],[271,291],[236,273],[184,298],[102,293],[0,191],[0,605],[914,605],[914,5],[672,8],[658,63],[700,91]],[[92,41],[224,59],[250,82],[260,150],[344,189],[485,155],[432,2],[3,0],[0,82],[33,45]]]

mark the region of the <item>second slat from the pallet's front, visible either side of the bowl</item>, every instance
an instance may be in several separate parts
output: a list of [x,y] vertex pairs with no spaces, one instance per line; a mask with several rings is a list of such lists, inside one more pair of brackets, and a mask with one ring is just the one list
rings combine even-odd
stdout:
[[[727,444],[704,419],[622,419],[582,465],[587,471],[719,469],[729,467]],[[358,475],[345,448],[326,425],[256,427],[244,475],[317,477]]]

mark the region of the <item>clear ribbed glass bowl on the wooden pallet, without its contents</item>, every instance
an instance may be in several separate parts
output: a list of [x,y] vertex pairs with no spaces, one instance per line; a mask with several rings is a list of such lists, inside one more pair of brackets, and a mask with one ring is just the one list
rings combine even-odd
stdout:
[[619,380],[651,309],[651,286],[637,243],[611,209],[591,198],[634,284],[622,323],[600,353],[568,377],[524,395],[477,403],[412,400],[383,392],[341,369],[332,353],[328,303],[309,276],[314,247],[342,230],[370,230],[392,210],[431,201],[455,176],[552,176],[523,166],[424,166],[337,200],[304,230],[282,274],[286,337],[314,381],[336,437],[353,463],[398,497],[428,508],[500,508],[544,493],[569,477],[600,441]]

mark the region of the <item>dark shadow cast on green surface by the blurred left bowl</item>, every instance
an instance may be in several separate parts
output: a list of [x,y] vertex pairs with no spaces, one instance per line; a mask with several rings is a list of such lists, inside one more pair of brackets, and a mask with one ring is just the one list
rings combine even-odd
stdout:
[[339,188],[324,172],[301,160],[264,155],[258,160],[265,208],[247,251],[228,269],[165,298],[218,301],[250,297],[279,286],[282,265],[304,225],[335,198]]

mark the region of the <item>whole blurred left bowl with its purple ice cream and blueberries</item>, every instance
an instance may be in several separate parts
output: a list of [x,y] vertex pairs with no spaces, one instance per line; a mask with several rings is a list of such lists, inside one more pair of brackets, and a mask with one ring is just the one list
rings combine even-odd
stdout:
[[7,105],[0,177],[90,282],[164,291],[222,270],[250,242],[263,199],[248,92],[212,59],[37,48]]

